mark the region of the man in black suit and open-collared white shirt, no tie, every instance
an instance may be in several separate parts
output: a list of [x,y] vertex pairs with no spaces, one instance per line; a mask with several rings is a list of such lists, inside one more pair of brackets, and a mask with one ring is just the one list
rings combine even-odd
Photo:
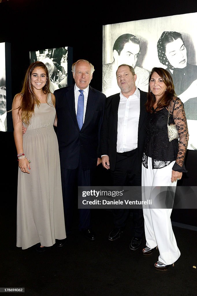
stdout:
[[[110,169],[112,186],[141,186],[142,152],[145,139],[146,92],[136,88],[136,74],[130,65],[118,67],[117,83],[121,92],[106,99],[101,128],[102,164]],[[131,250],[137,250],[144,234],[142,209],[132,209]],[[125,228],[129,209],[113,209],[115,240]]]

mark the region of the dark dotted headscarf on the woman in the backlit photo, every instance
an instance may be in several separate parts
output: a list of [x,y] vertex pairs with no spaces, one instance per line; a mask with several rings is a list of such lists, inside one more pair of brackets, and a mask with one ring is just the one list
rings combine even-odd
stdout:
[[[174,40],[180,38],[183,40],[182,35],[175,31],[164,31],[157,42],[157,54],[159,62],[167,66],[169,69],[174,70],[174,67],[170,64],[169,60],[166,57],[166,45]],[[184,42],[183,42],[184,44]]]

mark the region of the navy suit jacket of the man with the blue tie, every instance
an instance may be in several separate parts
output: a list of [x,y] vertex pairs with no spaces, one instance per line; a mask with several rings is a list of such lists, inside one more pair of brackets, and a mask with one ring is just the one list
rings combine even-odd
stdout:
[[85,119],[81,130],[75,111],[74,85],[54,91],[60,165],[75,169],[81,159],[83,170],[96,167],[106,96],[89,86]]

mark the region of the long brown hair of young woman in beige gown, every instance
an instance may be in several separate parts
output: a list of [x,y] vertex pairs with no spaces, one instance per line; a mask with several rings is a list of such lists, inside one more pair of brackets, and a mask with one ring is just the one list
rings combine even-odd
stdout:
[[[43,93],[46,94],[50,92],[49,91],[50,79],[49,79],[49,73],[46,65],[41,61],[33,62],[28,67],[28,70],[25,74],[25,78],[23,81],[22,91],[19,93],[21,95],[21,101],[20,101],[20,106],[18,108],[18,114],[20,113],[21,120],[26,125],[29,124],[30,118],[34,114],[35,104],[37,104],[38,107],[40,106],[40,102],[38,100],[38,97],[33,91],[32,83],[31,83],[31,74],[36,67],[41,67],[46,72],[46,84],[43,87]],[[17,95],[18,94],[14,96],[14,99]],[[47,97],[46,97],[46,102],[47,102]]]

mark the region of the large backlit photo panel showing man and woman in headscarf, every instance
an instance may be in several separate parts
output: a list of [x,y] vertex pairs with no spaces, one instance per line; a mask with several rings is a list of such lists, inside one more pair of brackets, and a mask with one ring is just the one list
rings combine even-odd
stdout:
[[197,13],[158,17],[103,26],[102,92],[120,92],[116,70],[134,67],[136,86],[148,90],[153,67],[167,69],[182,100],[188,121],[188,149],[196,150],[197,124]]

